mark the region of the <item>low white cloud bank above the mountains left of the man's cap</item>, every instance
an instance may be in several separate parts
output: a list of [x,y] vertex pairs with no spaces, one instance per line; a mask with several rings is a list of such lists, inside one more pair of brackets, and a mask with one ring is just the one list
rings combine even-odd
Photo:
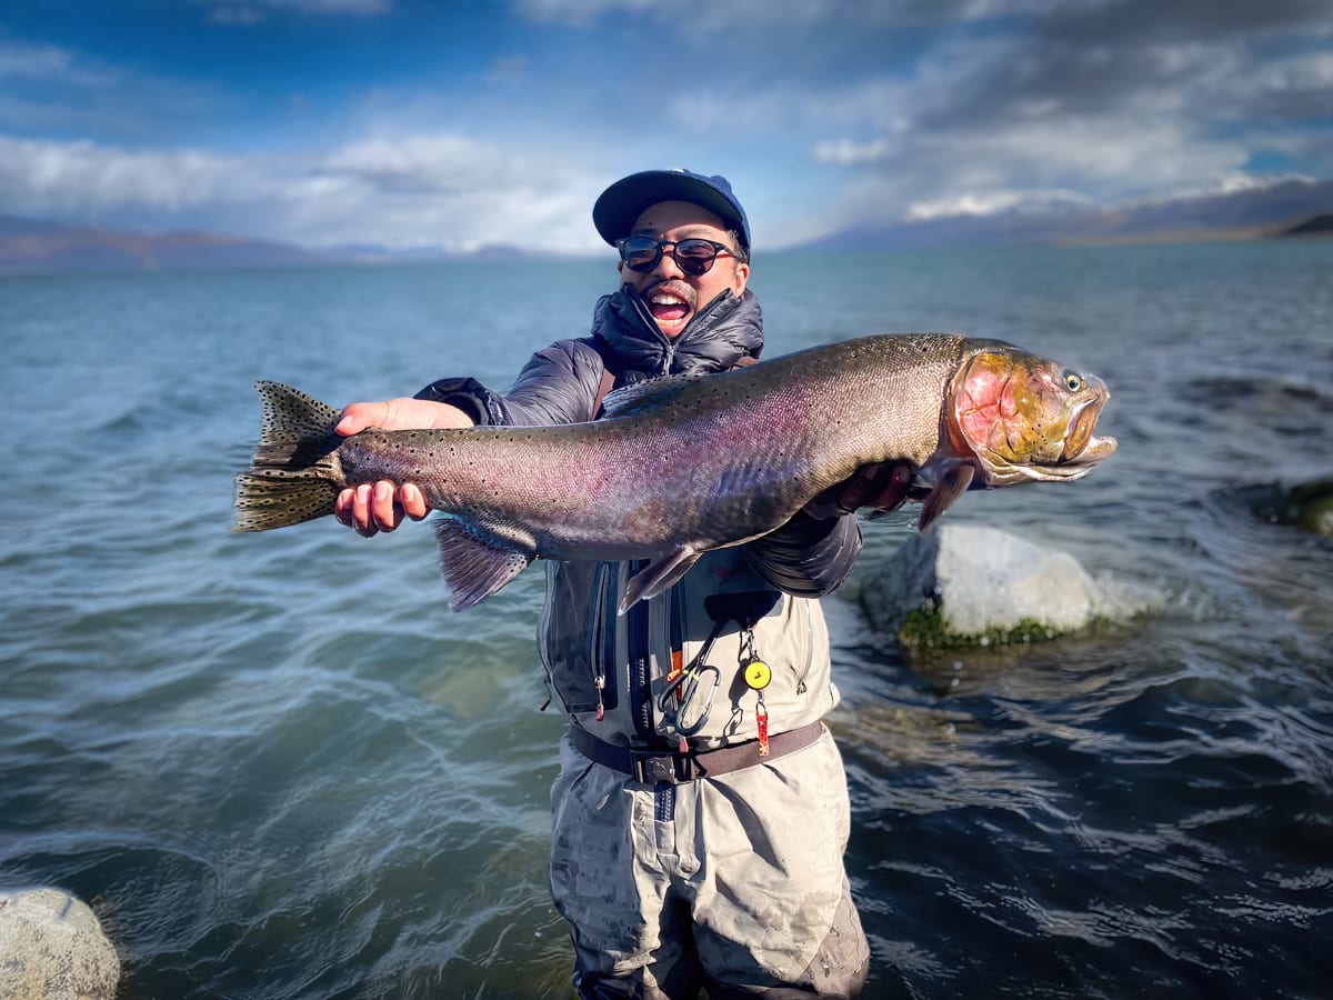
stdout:
[[468,137],[367,140],[327,153],[219,155],[0,136],[0,212],[211,228],[308,247],[555,252],[600,245],[596,175]]

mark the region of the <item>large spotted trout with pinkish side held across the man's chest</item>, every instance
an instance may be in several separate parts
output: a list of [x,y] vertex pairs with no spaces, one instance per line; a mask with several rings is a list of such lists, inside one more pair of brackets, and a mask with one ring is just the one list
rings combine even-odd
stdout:
[[416,483],[456,611],[533,559],[651,564],[620,612],[704,553],[782,525],[870,463],[909,463],[924,529],[969,487],[1078,479],[1116,449],[1093,429],[1105,385],[994,340],[864,337],[607,397],[557,427],[333,432],[339,412],[259,383],[264,427],[236,477],[236,528],[333,513],[344,487]]

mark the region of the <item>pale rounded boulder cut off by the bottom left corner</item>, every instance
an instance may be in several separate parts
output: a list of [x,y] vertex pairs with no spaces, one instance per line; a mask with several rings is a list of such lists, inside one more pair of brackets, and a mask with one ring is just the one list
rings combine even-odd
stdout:
[[0,889],[0,997],[112,1000],[120,959],[85,903],[63,889]]

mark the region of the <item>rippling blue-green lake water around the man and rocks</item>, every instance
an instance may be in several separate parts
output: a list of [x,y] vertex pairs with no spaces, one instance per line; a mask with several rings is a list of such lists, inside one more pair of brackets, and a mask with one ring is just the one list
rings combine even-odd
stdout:
[[[123,996],[571,996],[541,573],[448,611],[431,532],[233,535],[256,379],[504,388],[611,261],[0,279],[0,885],[92,903]],[[1158,595],[905,659],[825,601],[868,996],[1310,997],[1333,981],[1333,241],[760,257],[768,355],[885,331],[1094,371],[1120,452],[946,515]]]

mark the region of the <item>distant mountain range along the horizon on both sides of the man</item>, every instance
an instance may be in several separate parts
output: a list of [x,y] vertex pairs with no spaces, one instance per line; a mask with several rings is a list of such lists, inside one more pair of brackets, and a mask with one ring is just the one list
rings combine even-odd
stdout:
[[[1333,232],[1333,181],[1292,180],[1225,195],[1141,201],[1112,208],[1013,209],[913,223],[865,224],[800,249],[892,249],[1018,244],[1106,244],[1253,239]],[[496,256],[497,248],[476,257]],[[504,248],[504,256],[520,256]],[[311,251],[287,243],[212,232],[135,232],[0,215],[0,273],[167,271],[395,261],[457,256],[376,247]]]

